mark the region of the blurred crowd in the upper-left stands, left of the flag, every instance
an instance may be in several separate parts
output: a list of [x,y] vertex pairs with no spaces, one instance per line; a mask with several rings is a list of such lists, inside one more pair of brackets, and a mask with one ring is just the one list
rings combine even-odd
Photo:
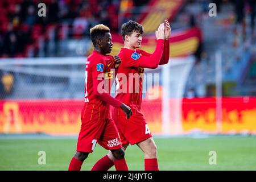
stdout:
[[[46,5],[46,16],[40,17],[39,3]],[[0,1],[0,57],[24,57],[29,49],[38,48],[39,39],[49,39],[52,27],[55,39],[64,36],[80,38],[89,28],[104,23],[118,31],[118,0],[1,0]],[[63,23],[68,34],[63,33]]]

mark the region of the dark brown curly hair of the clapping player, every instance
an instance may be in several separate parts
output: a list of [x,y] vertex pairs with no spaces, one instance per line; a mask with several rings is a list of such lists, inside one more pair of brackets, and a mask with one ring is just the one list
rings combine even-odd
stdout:
[[139,34],[144,33],[144,28],[141,24],[134,22],[133,20],[129,20],[127,23],[123,23],[121,27],[121,34],[123,40],[125,40],[125,35],[131,35],[133,32],[138,32]]

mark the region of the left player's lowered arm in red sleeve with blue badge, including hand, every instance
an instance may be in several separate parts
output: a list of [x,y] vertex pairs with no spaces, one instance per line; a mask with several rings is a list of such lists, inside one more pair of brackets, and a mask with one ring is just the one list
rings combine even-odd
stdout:
[[100,100],[107,104],[117,108],[121,107],[121,109],[126,113],[127,119],[129,119],[132,115],[130,107],[110,96],[108,92],[105,92],[104,84],[102,84],[105,79],[104,67],[105,65],[101,60],[94,61],[92,65],[93,93],[96,97],[100,98]]

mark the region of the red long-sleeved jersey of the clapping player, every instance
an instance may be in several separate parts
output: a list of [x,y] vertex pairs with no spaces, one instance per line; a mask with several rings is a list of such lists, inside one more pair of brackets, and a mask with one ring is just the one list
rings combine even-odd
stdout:
[[[118,56],[122,63],[117,73],[117,96],[115,98],[131,107],[134,114],[141,113],[144,68],[155,68],[155,63],[157,66],[167,64],[168,47],[169,41],[159,39],[152,54],[141,49],[121,48]],[[113,114],[123,115],[119,109],[113,109]]]

